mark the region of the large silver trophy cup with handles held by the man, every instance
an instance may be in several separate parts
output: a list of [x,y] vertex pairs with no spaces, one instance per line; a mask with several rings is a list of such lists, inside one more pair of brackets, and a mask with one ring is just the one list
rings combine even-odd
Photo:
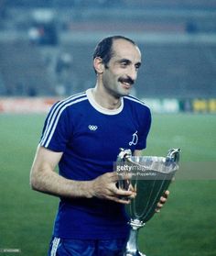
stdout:
[[127,206],[131,228],[124,256],[146,256],[138,250],[138,230],[155,214],[161,195],[178,170],[179,152],[179,149],[172,149],[167,157],[138,157],[132,156],[131,150],[121,149],[116,162],[118,186],[136,191],[135,199]]

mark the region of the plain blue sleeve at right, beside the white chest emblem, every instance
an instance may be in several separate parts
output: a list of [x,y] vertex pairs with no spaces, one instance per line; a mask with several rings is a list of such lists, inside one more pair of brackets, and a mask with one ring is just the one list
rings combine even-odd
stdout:
[[145,106],[144,114],[140,117],[140,124],[138,130],[138,143],[135,146],[135,150],[144,150],[146,149],[146,139],[148,132],[151,128],[151,112],[148,107]]

